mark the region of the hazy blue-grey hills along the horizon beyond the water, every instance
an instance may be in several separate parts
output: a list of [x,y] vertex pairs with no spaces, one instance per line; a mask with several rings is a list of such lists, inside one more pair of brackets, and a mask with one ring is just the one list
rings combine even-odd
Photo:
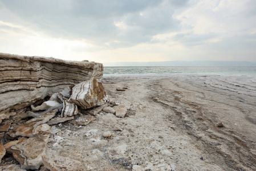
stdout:
[[213,60],[197,60],[197,61],[164,61],[164,62],[116,62],[103,63],[105,67],[111,66],[256,66],[254,62],[245,61],[213,61]]

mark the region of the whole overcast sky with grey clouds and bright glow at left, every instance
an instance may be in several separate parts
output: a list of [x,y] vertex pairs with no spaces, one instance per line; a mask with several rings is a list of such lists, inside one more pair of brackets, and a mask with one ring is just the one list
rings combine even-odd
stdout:
[[256,62],[255,0],[0,0],[0,52],[95,62]]

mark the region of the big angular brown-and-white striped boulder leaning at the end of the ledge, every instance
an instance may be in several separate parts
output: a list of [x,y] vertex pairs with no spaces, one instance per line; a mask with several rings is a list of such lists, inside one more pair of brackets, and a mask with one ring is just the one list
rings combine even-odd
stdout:
[[72,88],[72,95],[68,100],[75,103],[82,109],[93,108],[105,103],[105,90],[101,82],[96,78],[91,78],[86,82],[76,84]]

